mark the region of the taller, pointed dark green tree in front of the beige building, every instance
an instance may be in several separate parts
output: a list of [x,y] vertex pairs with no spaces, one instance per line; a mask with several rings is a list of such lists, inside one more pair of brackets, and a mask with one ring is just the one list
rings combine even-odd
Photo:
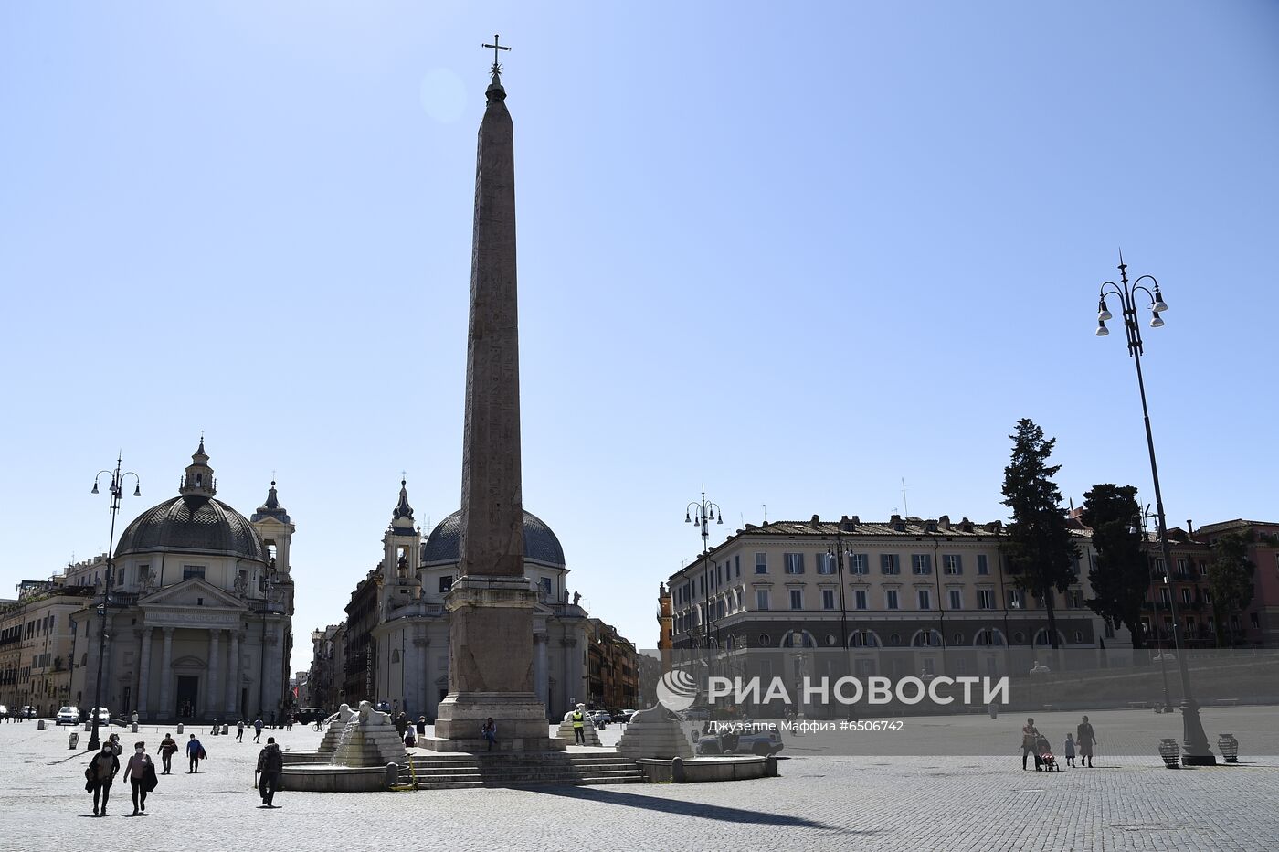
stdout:
[[1009,438],[1013,458],[1004,468],[1004,505],[1012,509],[1012,522],[1004,551],[1017,586],[1044,600],[1049,640],[1058,649],[1053,591],[1064,592],[1074,581],[1079,549],[1065,523],[1062,491],[1053,481],[1062,466],[1048,464],[1056,439],[1045,439],[1044,430],[1026,417],[1017,421],[1017,434]]

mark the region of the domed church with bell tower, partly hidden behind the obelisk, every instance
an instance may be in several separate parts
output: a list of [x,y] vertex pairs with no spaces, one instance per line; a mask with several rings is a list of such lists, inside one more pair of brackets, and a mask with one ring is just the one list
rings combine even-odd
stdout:
[[[462,513],[454,512],[423,540],[407,484],[400,482],[399,503],[382,536],[382,560],[357,590],[367,595],[367,583],[375,585],[376,624],[367,636],[350,623],[343,631],[345,647],[366,651],[345,655],[348,687],[341,701],[386,701],[393,713],[436,718],[449,692],[445,597],[458,576],[460,533]],[[537,592],[533,687],[547,716],[559,719],[587,700],[587,613],[565,587],[568,568],[559,539],[530,512],[524,512],[524,577]]]

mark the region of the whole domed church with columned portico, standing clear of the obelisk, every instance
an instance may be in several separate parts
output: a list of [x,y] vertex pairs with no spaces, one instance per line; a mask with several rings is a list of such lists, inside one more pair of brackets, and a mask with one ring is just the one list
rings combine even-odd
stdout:
[[[115,545],[102,665],[113,716],[270,722],[292,698],[293,522],[274,481],[248,518],[216,493],[201,438],[178,496],[134,518]],[[101,568],[72,565],[67,582],[102,586]],[[73,622],[72,696],[87,709],[101,622],[93,608]]]

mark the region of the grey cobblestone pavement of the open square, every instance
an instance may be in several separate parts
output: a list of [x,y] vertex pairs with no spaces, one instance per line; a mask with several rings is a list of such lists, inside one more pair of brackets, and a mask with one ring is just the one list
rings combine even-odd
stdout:
[[[1243,710],[1241,709],[1242,714]],[[1097,720],[1101,714],[1094,715]],[[975,728],[1017,720],[968,720]],[[1105,718],[1102,745],[1146,715]],[[1239,730],[1247,729],[1241,716]],[[152,751],[169,728],[143,727]],[[188,729],[188,732],[192,729]],[[822,756],[788,741],[781,778],[721,784],[631,784],[396,793],[289,793],[261,810],[252,788],[252,730],[207,737],[197,775],[185,761],[160,778],[147,816],[128,784],[111,816],[93,819],[83,792],[88,755],[68,728],[0,724],[9,764],[0,787],[0,849],[1273,849],[1279,838],[1279,759],[1239,766],[1163,769],[1152,751],[1106,755],[1095,769],[1022,771],[1019,755]],[[1214,729],[1215,730],[1215,729]],[[1157,733],[1157,732],[1156,732]],[[285,748],[313,748],[308,728],[267,730]],[[604,732],[605,743],[619,732]],[[948,736],[955,736],[950,730]],[[1214,734],[1215,736],[1215,734]],[[122,733],[127,745],[136,737]],[[179,737],[185,739],[185,736]],[[1000,742],[1007,742],[1001,739]],[[1102,752],[1104,753],[1104,752]]]

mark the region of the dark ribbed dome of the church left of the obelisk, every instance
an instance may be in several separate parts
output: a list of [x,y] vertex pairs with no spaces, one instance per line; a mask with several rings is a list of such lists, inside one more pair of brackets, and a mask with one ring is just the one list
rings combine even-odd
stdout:
[[221,500],[175,496],[151,507],[125,528],[115,548],[130,553],[200,553],[266,562],[266,548],[248,519]]

